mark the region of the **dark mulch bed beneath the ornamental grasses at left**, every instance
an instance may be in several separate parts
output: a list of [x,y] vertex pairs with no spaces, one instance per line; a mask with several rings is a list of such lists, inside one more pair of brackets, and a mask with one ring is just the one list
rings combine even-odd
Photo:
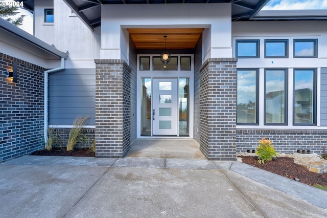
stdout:
[[88,148],[78,149],[75,148],[72,151],[67,151],[66,148],[53,149],[53,150],[37,150],[31,155],[38,156],[75,156],[75,157],[94,157],[95,152],[90,151]]

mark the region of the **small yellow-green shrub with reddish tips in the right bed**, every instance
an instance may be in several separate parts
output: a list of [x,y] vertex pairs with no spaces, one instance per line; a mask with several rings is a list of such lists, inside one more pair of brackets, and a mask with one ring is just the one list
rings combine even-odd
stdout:
[[271,161],[273,158],[277,158],[278,153],[272,146],[272,142],[266,137],[263,137],[259,141],[259,146],[256,147],[256,154],[258,155],[258,162],[265,163],[266,161]]

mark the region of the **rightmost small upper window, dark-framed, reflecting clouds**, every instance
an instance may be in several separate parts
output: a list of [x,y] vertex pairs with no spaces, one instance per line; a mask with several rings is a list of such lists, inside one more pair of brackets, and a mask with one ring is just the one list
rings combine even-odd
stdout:
[[294,57],[318,57],[317,39],[294,39]]

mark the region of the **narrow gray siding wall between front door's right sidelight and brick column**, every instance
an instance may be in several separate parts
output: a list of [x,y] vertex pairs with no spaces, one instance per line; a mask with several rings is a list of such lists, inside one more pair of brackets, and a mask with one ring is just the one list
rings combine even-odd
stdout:
[[200,67],[202,65],[202,37],[194,55],[194,139],[200,143]]

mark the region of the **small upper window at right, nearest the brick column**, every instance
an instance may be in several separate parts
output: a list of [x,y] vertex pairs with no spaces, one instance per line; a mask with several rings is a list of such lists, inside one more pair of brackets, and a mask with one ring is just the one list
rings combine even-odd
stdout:
[[236,40],[236,56],[238,58],[259,58],[259,39]]

